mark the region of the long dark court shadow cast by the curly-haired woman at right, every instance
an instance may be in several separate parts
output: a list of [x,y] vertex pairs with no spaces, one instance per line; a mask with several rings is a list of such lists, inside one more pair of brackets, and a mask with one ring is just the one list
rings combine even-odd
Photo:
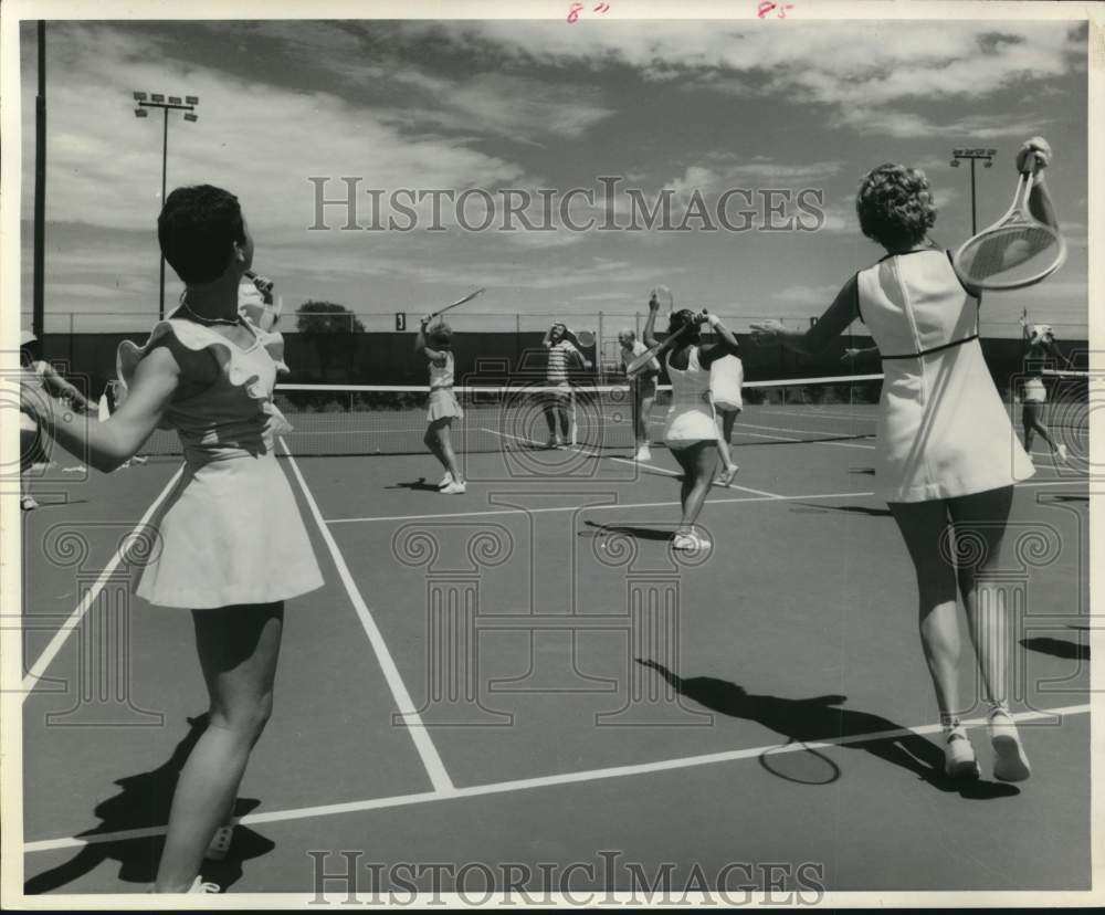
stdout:
[[[754,695],[743,686],[713,676],[678,676],[655,661],[636,659],[639,664],[656,671],[681,695],[699,705],[729,715],[757,722],[793,743],[836,742],[846,749],[864,750],[872,756],[901,766],[941,791],[958,791],[971,800],[1019,795],[1011,785],[994,781],[956,781],[944,774],[944,751],[932,740],[914,734],[902,725],[869,712],[840,708],[848,696],[825,695],[810,698],[782,698]],[[862,739],[867,735],[895,732],[885,737]],[[834,764],[829,765],[835,768]],[[828,781],[831,783],[836,776]]]

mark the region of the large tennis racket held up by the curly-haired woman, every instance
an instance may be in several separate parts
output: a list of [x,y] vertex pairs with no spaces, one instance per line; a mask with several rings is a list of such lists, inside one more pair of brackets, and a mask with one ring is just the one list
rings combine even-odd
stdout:
[[980,290],[1020,290],[1051,276],[1066,260],[1066,240],[1029,211],[1030,156],[1017,177],[1013,202],[1001,219],[968,239],[951,259],[959,278]]

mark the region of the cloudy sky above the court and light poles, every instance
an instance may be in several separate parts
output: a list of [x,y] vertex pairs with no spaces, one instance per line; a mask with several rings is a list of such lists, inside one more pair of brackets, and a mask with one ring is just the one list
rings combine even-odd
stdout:
[[[200,97],[197,123],[170,124],[169,187],[210,182],[241,198],[256,267],[286,308],[325,298],[366,314],[421,313],[486,286],[480,311],[511,315],[506,326],[514,313],[524,326],[550,313],[632,313],[657,283],[738,327],[764,315],[804,322],[881,254],[852,204],[867,169],[923,168],[940,203],[934,238],[955,246],[970,233],[970,209],[968,170],[949,167],[951,148],[998,150],[978,172],[981,228],[1008,206],[1017,147],[1042,134],[1056,154],[1051,186],[1071,256],[1049,283],[988,298],[987,322],[992,333],[1028,306],[1084,328],[1085,48],[1085,29],[1063,22],[52,22],[48,328],[69,312],[88,330],[117,326],[92,313],[133,315],[134,328],[156,317],[161,125],[135,118],[134,90]],[[31,23],[21,50],[29,311]],[[604,215],[628,222],[627,199],[604,212],[577,194],[571,218],[594,219],[589,231],[568,230],[556,212],[554,231],[465,231],[448,203],[433,231],[432,198],[413,208],[410,231],[339,231],[337,208],[332,230],[309,230],[313,176],[334,179],[328,197],[344,194],[338,178],[358,178],[364,225],[370,189],[385,201],[400,189],[598,194],[601,176],[621,176],[650,206],[667,189],[676,224],[696,192],[711,219],[735,188],[753,191],[753,210],[762,189],[814,189],[824,219],[817,231],[765,231],[797,215],[793,206],[741,217],[739,197],[730,224],[748,231],[709,231],[701,218],[686,219],[687,231],[603,231]],[[482,206],[470,202],[471,224]],[[539,223],[539,207],[527,212]],[[172,302],[180,286],[169,275]]]

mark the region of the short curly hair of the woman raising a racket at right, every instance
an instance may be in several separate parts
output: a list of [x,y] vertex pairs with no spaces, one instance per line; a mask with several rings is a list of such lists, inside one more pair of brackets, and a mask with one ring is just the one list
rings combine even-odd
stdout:
[[860,228],[887,245],[916,244],[936,223],[936,202],[925,172],[887,162],[872,169],[855,196]]

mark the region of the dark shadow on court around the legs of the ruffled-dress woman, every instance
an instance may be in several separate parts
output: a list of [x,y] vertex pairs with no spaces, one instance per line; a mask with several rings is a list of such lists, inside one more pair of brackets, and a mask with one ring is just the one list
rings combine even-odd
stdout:
[[[138,837],[134,839],[96,842],[97,835],[127,830],[164,829],[169,820],[169,807],[177,779],[185,760],[191,753],[200,735],[207,729],[208,716],[189,718],[188,734],[177,744],[172,755],[162,765],[148,772],[117,779],[119,793],[108,798],[95,808],[99,825],[80,833],[77,839],[92,840],[69,861],[30,877],[23,884],[27,895],[49,893],[91,873],[105,861],[119,863],[118,879],[124,883],[150,884],[157,875],[157,863],[165,844],[164,835]],[[242,817],[261,801],[239,798],[234,816]],[[239,825],[234,830],[230,854],[223,861],[204,861],[202,875],[225,888],[242,876],[242,862],[260,858],[271,852],[276,844],[253,830]]]

